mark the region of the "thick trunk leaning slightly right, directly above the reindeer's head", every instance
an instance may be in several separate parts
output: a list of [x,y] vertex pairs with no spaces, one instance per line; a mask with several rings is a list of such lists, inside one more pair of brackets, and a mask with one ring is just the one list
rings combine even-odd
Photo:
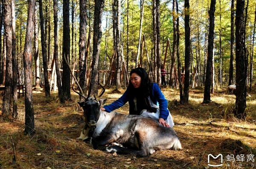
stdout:
[[94,6],[94,25],[93,25],[93,62],[91,71],[92,94],[97,96],[98,89],[96,80],[98,80],[99,71],[99,52],[100,42],[102,38],[102,12],[104,8],[104,0],[96,0]]

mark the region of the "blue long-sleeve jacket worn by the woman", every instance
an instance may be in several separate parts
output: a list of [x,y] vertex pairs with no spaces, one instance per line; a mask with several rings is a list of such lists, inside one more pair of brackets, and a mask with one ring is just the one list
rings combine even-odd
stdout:
[[[160,108],[159,118],[163,118],[164,120],[166,120],[169,115],[169,110],[167,110],[168,102],[165,99],[163,93],[161,92],[160,87],[156,83],[152,84],[152,93],[150,98],[153,101],[153,103],[158,105]],[[134,97],[131,97],[131,89],[129,87],[118,100],[114,101],[109,105],[104,106],[104,108],[107,112],[111,112],[113,110],[118,109],[119,107],[122,107],[125,103],[127,103],[127,101],[129,102],[129,114],[137,114],[134,113]],[[142,108],[140,107],[140,105],[137,104],[137,110],[141,109]],[[138,113],[140,113],[140,111]]]

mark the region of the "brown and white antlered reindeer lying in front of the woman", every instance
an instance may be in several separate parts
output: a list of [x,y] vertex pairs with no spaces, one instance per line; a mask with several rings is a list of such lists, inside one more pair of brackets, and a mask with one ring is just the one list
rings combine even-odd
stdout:
[[[77,80],[75,81],[79,86]],[[103,90],[99,97],[105,92],[104,87],[100,86]],[[89,130],[94,128],[91,137],[94,149],[102,149],[110,153],[135,154],[140,157],[151,155],[160,149],[182,149],[180,140],[173,128],[163,127],[157,121],[140,115],[102,111],[100,107],[107,99],[97,100],[95,96],[94,98],[89,97],[91,88],[87,97],[82,90],[80,93],[75,92],[85,99],[85,101],[78,102],[84,110],[85,117],[85,126],[79,139],[88,138]],[[105,146],[112,143],[117,144]]]

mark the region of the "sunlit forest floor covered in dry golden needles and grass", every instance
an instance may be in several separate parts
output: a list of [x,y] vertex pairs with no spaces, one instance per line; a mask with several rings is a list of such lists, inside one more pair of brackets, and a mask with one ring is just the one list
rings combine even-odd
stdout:
[[[120,89],[123,93],[125,90]],[[35,135],[24,135],[24,97],[18,99],[18,119],[0,119],[0,168],[2,169],[238,169],[256,168],[256,86],[247,97],[247,118],[234,118],[236,96],[219,89],[212,102],[201,104],[202,87],[190,88],[189,104],[178,105],[179,90],[162,88],[169,101],[182,150],[161,150],[145,158],[116,155],[93,149],[77,140],[84,126],[83,111],[72,92],[72,101],[59,104],[58,93],[46,99],[42,90],[33,91]],[[107,89],[102,98],[110,104],[121,96]],[[2,104],[3,96],[0,96]],[[175,101],[177,100],[177,101]],[[128,113],[128,104],[117,111]],[[13,163],[14,154],[16,162]],[[223,156],[220,167],[208,166],[208,155]],[[219,156],[220,157],[220,156]],[[221,164],[221,159],[209,160]]]

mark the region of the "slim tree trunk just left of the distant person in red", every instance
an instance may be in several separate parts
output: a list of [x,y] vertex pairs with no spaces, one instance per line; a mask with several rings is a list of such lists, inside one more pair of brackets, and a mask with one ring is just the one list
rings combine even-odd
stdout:
[[160,0],[156,0],[156,33],[157,33],[157,84],[161,86],[161,53],[160,53]]

